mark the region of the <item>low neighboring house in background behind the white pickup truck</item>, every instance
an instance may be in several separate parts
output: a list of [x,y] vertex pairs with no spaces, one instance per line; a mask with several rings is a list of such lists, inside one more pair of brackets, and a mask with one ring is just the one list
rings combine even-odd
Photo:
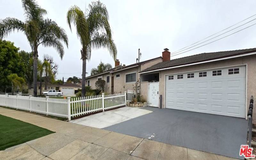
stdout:
[[[37,94],[40,94],[40,82],[37,82]],[[28,88],[26,85],[25,89]],[[57,92],[63,92],[63,95],[75,95],[78,90],[82,89],[81,86],[74,83],[66,83],[66,84],[47,84],[47,90],[44,90],[44,83],[42,83],[42,92],[46,92],[49,90],[56,90]],[[33,94],[33,85],[32,89],[28,91],[30,94]]]

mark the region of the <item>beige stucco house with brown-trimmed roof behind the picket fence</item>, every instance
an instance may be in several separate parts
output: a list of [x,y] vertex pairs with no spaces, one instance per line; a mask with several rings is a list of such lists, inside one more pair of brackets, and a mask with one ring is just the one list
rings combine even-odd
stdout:
[[[104,89],[105,92],[120,93],[127,91],[128,89],[133,90],[136,86],[136,81],[138,81],[138,86],[140,86],[139,72],[162,61],[162,57],[157,57],[128,66],[122,66],[120,65],[119,60],[116,60],[115,68],[109,69],[100,74],[86,77],[85,85],[91,86],[92,89],[96,89],[95,82],[99,79],[103,79],[106,81]],[[138,92],[140,92],[140,89],[138,89]]]

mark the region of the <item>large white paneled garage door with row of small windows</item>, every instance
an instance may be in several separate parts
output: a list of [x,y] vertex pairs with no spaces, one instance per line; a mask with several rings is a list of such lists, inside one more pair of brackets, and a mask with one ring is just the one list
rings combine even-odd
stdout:
[[245,118],[245,66],[167,75],[166,108]]

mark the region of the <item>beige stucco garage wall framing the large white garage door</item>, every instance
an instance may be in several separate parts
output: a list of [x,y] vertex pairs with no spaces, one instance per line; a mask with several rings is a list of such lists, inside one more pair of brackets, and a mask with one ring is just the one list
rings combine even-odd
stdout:
[[[243,65],[247,64],[247,110],[249,108],[249,100],[251,95],[253,97],[256,97],[256,55],[250,55],[245,57],[238,57],[234,59],[228,59],[228,60],[221,60],[221,61],[215,61],[215,62],[208,62],[193,66],[186,66],[186,67],[180,67],[180,68],[172,68],[172,69],[166,69],[162,70],[160,72],[159,77],[159,95],[163,95],[162,98],[162,107],[165,108],[164,99],[165,99],[165,93],[164,93],[164,79],[166,74],[174,74],[174,73],[180,73],[180,72],[189,72],[189,71],[196,71],[196,70],[203,70],[203,69],[211,69],[211,68],[220,68],[220,67],[229,67],[229,66],[235,66],[235,65]],[[254,112],[255,116],[256,113]],[[247,115],[247,113],[246,113]],[[256,122],[256,117],[252,116],[253,119]]]

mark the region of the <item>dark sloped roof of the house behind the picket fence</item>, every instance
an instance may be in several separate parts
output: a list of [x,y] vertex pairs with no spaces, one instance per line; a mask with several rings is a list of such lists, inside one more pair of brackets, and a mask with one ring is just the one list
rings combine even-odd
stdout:
[[[96,74],[96,75],[92,75],[92,76],[88,76],[86,78],[90,78],[90,77],[94,77],[94,76],[100,76],[102,74],[105,74],[105,73],[112,73],[112,72],[116,72],[116,71],[119,71],[119,70],[124,70],[124,69],[128,69],[128,68],[132,68],[132,67],[136,67],[136,66],[139,66],[139,65],[142,65],[142,64],[145,64],[145,63],[148,63],[148,62],[151,62],[151,61],[154,61],[154,60],[157,60],[157,59],[162,59],[162,57],[156,57],[156,58],[153,58],[153,59],[150,59],[150,60],[145,60],[145,61],[142,61],[140,63],[134,63],[134,64],[131,64],[131,65],[128,65],[128,66],[116,66],[115,68],[111,68],[103,73],[99,73],[99,74]],[[85,78],[85,79],[86,79]]]

